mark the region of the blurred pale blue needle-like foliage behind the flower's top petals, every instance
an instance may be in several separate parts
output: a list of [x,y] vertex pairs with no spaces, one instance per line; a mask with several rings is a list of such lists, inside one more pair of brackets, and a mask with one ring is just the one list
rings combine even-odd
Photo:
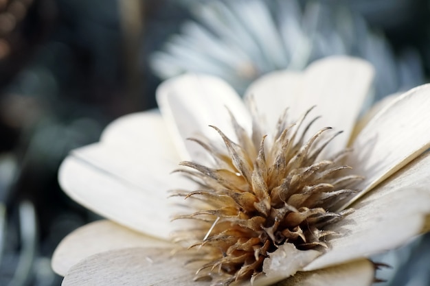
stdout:
[[163,80],[184,72],[216,75],[242,93],[265,73],[350,55],[374,66],[378,98],[422,84],[416,51],[396,56],[383,34],[346,5],[303,2],[304,8],[295,0],[192,1],[195,21],[152,54],[150,67]]

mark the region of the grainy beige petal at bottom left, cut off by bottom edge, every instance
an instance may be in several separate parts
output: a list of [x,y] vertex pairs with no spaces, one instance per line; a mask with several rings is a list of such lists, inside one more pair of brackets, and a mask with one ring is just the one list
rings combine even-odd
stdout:
[[202,285],[202,281],[193,281],[195,270],[182,258],[172,256],[167,248],[103,252],[71,267],[62,285]]

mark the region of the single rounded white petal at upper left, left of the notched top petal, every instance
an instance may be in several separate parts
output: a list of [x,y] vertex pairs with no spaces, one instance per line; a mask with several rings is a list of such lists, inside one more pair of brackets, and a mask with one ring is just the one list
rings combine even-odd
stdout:
[[185,160],[206,159],[201,146],[186,139],[204,134],[219,139],[209,128],[216,126],[235,139],[228,110],[246,130],[251,130],[251,119],[242,99],[227,83],[210,75],[186,74],[163,82],[157,89],[161,113],[170,123],[172,137]]

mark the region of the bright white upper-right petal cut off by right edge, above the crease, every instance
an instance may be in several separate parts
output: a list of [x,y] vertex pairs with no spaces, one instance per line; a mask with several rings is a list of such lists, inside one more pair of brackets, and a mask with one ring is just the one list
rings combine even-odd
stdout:
[[[357,136],[347,164],[365,176],[354,202],[430,147],[430,85],[395,99]],[[349,202],[349,203],[351,203]]]

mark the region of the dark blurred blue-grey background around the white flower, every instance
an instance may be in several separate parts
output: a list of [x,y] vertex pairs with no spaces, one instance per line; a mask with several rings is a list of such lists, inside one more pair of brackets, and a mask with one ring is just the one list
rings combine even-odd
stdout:
[[[341,3],[342,5],[339,5]],[[98,217],[60,190],[69,150],[155,108],[161,80],[259,75],[332,54],[376,67],[375,100],[428,81],[429,0],[0,0],[0,285],[60,285],[60,240]],[[376,257],[377,285],[430,285],[430,237]]]

